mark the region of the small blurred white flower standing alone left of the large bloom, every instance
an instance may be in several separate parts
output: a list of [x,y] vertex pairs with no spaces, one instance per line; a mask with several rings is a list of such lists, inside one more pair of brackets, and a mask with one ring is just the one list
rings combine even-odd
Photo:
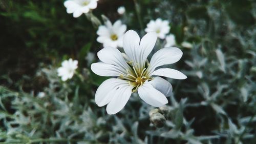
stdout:
[[61,63],[61,67],[58,68],[58,76],[61,76],[62,81],[66,81],[67,79],[70,79],[73,77],[75,70],[77,69],[77,60],[72,60],[71,58],[69,60],[64,60]]

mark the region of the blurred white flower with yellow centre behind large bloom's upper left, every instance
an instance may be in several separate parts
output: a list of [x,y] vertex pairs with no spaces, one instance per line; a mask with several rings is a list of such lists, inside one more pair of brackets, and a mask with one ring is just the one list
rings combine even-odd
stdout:
[[123,47],[123,34],[126,31],[126,25],[122,25],[121,20],[117,20],[114,25],[108,20],[104,26],[99,26],[97,42],[104,47]]

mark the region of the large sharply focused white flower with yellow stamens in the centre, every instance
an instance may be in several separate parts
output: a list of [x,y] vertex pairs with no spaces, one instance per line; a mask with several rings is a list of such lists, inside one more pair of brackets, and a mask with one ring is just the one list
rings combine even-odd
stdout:
[[174,69],[156,70],[159,66],[176,63],[182,56],[178,48],[160,49],[152,56],[150,63],[146,62],[156,40],[155,32],[147,33],[140,40],[135,31],[129,30],[123,37],[123,49],[126,54],[111,47],[103,48],[97,53],[102,62],[92,64],[92,71],[100,76],[117,77],[105,80],[95,94],[99,107],[108,104],[108,114],[119,112],[133,92],[138,92],[140,98],[151,106],[163,106],[168,103],[166,96],[172,92],[172,85],[159,76],[186,78],[183,73]]

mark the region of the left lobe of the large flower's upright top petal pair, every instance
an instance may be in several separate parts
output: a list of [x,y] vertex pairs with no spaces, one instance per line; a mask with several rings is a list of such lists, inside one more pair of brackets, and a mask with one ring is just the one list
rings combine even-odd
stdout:
[[123,36],[123,50],[134,61],[136,61],[136,49],[140,44],[140,37],[133,30],[127,31]]

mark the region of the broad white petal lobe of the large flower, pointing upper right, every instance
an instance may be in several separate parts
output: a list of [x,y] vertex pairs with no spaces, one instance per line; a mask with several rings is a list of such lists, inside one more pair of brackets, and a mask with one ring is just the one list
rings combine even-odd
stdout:
[[180,60],[182,54],[182,51],[175,47],[160,49],[151,58],[150,72],[153,72],[159,66],[176,63]]

